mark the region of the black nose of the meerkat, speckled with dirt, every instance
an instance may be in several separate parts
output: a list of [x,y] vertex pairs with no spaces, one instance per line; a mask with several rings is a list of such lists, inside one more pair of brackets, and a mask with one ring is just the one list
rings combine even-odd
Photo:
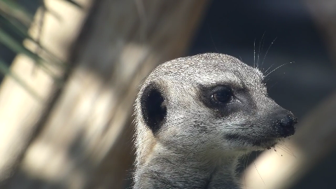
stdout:
[[293,114],[288,114],[287,116],[276,120],[279,127],[279,134],[281,137],[289,137],[295,133],[294,125],[297,123],[297,118]]

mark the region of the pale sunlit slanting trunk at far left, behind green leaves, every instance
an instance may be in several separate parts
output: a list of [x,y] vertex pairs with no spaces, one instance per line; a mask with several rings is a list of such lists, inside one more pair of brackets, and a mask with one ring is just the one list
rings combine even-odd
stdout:
[[[65,64],[68,63],[69,48],[90,7],[89,1],[82,3],[86,8],[83,10],[66,1],[45,0],[43,3],[50,12],[41,14],[38,10],[34,22],[41,20],[43,15],[48,25],[30,26],[32,17],[26,10],[16,6],[15,1],[0,0],[0,12],[6,18],[3,22],[10,26],[6,30],[0,29],[0,41],[18,53],[10,68],[4,62],[0,64],[1,71],[6,73],[0,88],[0,138],[3,141],[0,143],[1,185],[17,170],[31,141],[43,127],[57,92],[64,86],[63,78],[69,72],[69,65]],[[52,13],[62,15],[62,22]],[[29,19],[25,19],[25,16]],[[42,29],[46,31],[43,36],[41,32],[36,33]],[[26,37],[23,44],[10,35],[11,31]],[[41,40],[36,41],[38,37]],[[36,47],[38,53],[35,52]],[[34,95],[40,101],[36,101]]]

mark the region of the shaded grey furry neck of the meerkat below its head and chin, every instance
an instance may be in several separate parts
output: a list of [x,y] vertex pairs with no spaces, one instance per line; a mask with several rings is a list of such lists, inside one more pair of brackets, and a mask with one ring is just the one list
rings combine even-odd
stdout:
[[134,188],[239,188],[238,156],[209,160],[193,153],[157,151],[137,169]]

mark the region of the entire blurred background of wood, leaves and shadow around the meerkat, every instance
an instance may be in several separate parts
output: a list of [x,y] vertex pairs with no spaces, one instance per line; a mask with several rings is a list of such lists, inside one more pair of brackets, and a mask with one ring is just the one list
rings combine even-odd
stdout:
[[218,52],[258,64],[299,118],[243,186],[335,188],[335,20],[332,0],[0,0],[0,187],[132,186],[139,83]]

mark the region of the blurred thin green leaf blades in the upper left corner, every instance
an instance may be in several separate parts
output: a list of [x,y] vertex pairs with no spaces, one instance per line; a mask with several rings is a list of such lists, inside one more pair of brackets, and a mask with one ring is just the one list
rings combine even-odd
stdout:
[[[71,0],[63,0],[69,3],[71,6],[76,6],[77,8],[82,8],[78,3]],[[22,5],[26,3],[26,6]],[[55,80],[55,83],[58,85],[62,85],[62,80],[57,78],[54,73],[50,69],[48,69],[47,64],[52,66],[57,66],[60,69],[64,69],[66,66],[65,62],[62,62],[60,59],[52,55],[51,52],[46,50],[39,43],[39,35],[41,34],[41,27],[43,26],[44,13],[48,11],[45,8],[44,2],[40,0],[36,0],[36,6],[41,8],[42,16],[41,20],[38,20],[38,37],[36,39],[31,38],[28,34],[28,29],[34,20],[34,14],[36,12],[36,8],[27,7],[28,2],[26,1],[15,1],[15,0],[0,0],[0,43],[4,45],[8,50],[14,52],[15,54],[23,54],[27,57],[30,57],[36,63],[36,66],[39,66],[43,71],[48,73],[50,77]],[[33,1],[29,3],[34,3]],[[29,39],[31,42],[36,44],[36,50],[32,51],[23,45],[22,41],[24,39]],[[43,52],[43,54],[48,58],[41,57],[38,55],[38,52]],[[3,54],[2,54],[3,55]],[[32,90],[29,85],[25,83],[25,80],[20,79],[20,76],[15,75],[12,71],[10,71],[9,65],[11,61],[8,62],[6,59],[1,57],[0,53],[0,73],[3,75],[8,75],[13,77],[22,87],[27,90],[31,95],[38,98],[38,95],[34,90]]]

